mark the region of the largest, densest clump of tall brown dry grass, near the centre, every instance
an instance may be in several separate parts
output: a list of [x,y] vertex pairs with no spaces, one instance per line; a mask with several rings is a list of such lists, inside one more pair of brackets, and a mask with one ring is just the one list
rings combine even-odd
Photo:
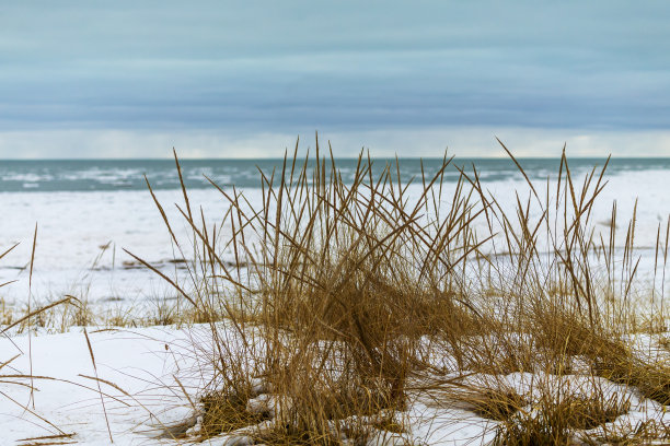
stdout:
[[[212,389],[226,400],[240,394],[241,383],[263,376],[282,396],[272,443],[363,435],[358,418],[403,410],[407,379],[430,368],[425,336],[453,332],[457,342],[476,326],[460,269],[477,249],[465,223],[483,210],[464,192],[464,178],[450,207],[437,200],[450,160],[420,179],[421,196],[412,204],[391,164],[376,173],[361,156],[349,185],[332,160],[319,153],[315,160],[287,160],[280,174],[262,174],[261,209],[220,189],[232,227],[224,242],[190,209],[185,189],[180,208],[203,268],[193,273],[195,292],[175,287],[198,312],[224,315],[241,341],[234,349],[213,345],[220,363]],[[182,249],[182,240],[174,243]],[[232,268],[219,257],[224,250],[234,255]],[[229,336],[213,318],[210,324],[215,339]]]

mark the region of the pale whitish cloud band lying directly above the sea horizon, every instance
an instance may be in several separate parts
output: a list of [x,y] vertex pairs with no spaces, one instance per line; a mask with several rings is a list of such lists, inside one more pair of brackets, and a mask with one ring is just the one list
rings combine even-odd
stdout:
[[[232,133],[221,130],[131,131],[46,130],[0,132],[2,159],[125,159],[280,157],[292,151],[298,134],[279,132]],[[670,131],[581,132],[571,129],[521,127],[450,127],[347,130],[320,133],[336,156],[354,157],[361,150],[372,156],[458,157],[506,156],[498,137],[516,156],[557,157],[564,144],[568,156],[670,156]],[[314,132],[300,133],[300,148],[314,148]]]

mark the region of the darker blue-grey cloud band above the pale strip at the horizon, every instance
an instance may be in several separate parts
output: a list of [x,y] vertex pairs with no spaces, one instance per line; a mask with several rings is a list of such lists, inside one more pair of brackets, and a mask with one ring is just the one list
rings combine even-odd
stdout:
[[665,128],[658,72],[521,66],[490,50],[332,52],[223,61],[85,61],[0,74],[0,127],[507,125]]

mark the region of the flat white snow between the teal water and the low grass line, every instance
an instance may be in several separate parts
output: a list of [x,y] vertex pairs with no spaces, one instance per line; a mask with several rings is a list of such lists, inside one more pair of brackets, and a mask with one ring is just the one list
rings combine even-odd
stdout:
[[[578,175],[578,179],[582,180],[584,175]],[[600,223],[610,219],[612,203],[616,201],[617,246],[623,246],[625,225],[633,216],[637,199],[637,254],[643,258],[640,274],[649,275],[654,269],[658,225],[663,230],[670,214],[670,195],[666,192],[668,173],[663,169],[624,171],[605,176],[605,179],[609,184],[596,201],[592,222],[597,228],[605,231],[607,226]],[[550,189],[555,190],[555,180],[550,181]],[[449,201],[454,184],[444,186],[444,201]],[[522,200],[529,192],[521,179],[489,180],[483,186],[495,193],[510,215],[515,214],[516,191]],[[544,184],[540,181],[536,187],[542,197]],[[411,186],[407,189],[409,199],[418,197],[419,190],[419,185]],[[246,188],[243,193],[252,206],[259,204],[261,189]],[[123,250],[130,250],[171,275],[182,273],[176,263],[170,262],[174,258],[188,259],[190,253],[188,227],[174,206],[181,203],[183,207],[182,191],[157,190],[155,195],[177,237],[184,240],[183,251],[171,243],[148,190],[1,192],[0,203],[4,215],[10,218],[3,219],[0,225],[0,249],[15,243],[20,245],[0,260],[0,283],[18,280],[13,286],[0,289],[0,297],[10,305],[22,305],[27,300],[25,267],[31,259],[35,223],[38,230],[32,294],[38,301],[72,294],[92,303],[120,300],[130,306],[165,295],[169,289],[163,281],[151,271],[132,268],[134,259]],[[192,209],[198,212],[203,209],[210,225],[220,223],[228,208],[226,199],[213,188],[190,190],[189,201]],[[531,216],[540,216],[536,208],[531,207]],[[223,231],[227,228],[224,225]],[[475,222],[474,228],[485,234],[484,219]],[[102,249],[107,244],[108,248]]]

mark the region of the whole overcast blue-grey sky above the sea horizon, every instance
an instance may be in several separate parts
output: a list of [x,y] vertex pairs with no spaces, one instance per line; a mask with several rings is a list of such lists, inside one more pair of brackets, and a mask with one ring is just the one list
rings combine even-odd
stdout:
[[670,2],[0,0],[0,157],[670,156]]

